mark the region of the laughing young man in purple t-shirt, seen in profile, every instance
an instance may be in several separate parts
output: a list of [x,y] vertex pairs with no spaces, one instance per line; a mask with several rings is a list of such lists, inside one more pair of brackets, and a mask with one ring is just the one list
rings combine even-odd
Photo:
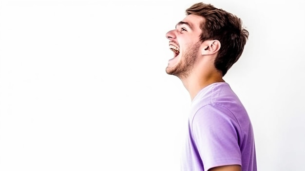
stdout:
[[248,114],[223,76],[241,56],[248,31],[236,16],[196,3],[166,34],[173,58],[166,72],[191,95],[183,171],[256,171]]

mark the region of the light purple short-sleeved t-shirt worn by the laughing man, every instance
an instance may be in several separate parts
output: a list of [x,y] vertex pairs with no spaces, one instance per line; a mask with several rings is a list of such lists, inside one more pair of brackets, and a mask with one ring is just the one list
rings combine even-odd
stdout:
[[193,98],[182,171],[241,165],[257,171],[252,125],[246,109],[226,82],[213,83]]

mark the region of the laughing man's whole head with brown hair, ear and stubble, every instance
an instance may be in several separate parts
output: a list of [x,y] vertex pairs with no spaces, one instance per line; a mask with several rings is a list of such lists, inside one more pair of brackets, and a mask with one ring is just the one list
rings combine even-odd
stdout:
[[215,54],[213,65],[224,76],[241,56],[248,39],[241,19],[204,3],[192,5],[186,14],[176,29],[166,34],[174,52],[167,73],[186,77],[198,57]]

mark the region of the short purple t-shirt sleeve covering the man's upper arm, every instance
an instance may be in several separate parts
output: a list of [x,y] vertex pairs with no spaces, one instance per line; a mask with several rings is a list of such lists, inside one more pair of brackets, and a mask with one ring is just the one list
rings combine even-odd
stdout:
[[217,166],[241,165],[240,127],[227,108],[214,104],[200,108],[191,127],[205,171]]

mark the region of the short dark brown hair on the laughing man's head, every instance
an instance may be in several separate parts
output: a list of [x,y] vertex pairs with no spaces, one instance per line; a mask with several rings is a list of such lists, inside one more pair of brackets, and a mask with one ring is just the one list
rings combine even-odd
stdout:
[[214,66],[225,76],[229,68],[242,55],[249,33],[242,27],[242,20],[235,15],[215,8],[211,4],[195,3],[186,14],[204,17],[201,23],[200,40],[217,39],[221,43]]

